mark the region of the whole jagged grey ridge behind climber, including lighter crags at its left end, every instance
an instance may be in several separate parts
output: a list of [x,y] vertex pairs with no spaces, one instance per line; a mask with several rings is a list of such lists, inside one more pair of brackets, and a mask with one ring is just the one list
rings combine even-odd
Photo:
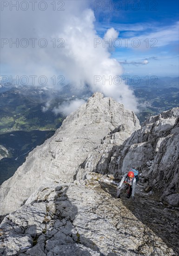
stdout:
[[146,191],[152,189],[160,200],[179,207],[179,108],[152,116],[121,145],[117,138],[123,132],[120,126],[107,135],[83,168],[116,178],[136,168]]

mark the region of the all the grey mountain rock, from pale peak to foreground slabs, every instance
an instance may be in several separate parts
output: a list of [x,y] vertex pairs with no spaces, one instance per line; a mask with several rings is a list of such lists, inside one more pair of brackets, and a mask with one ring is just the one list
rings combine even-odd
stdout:
[[[166,175],[166,162],[177,164],[178,123],[174,108],[140,128],[132,111],[93,94],[1,186],[1,212],[16,211],[0,225],[0,255],[178,255],[177,205],[171,209],[142,188],[155,189],[158,169]],[[152,169],[155,161],[158,168]],[[116,199],[114,176],[139,162],[144,183],[138,184],[135,201],[125,194]],[[177,177],[174,164],[170,173]],[[178,183],[173,184],[167,196],[177,195]]]

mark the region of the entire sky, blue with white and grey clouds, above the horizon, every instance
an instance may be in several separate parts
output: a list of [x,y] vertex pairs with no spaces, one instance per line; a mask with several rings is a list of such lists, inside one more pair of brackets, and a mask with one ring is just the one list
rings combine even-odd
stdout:
[[[46,76],[47,84],[52,85],[52,77],[57,84],[63,75],[65,83],[88,83],[108,95],[111,89],[103,80],[95,87],[94,77],[179,76],[178,0],[64,0],[55,1],[54,10],[54,1],[46,0],[42,1],[46,3],[44,11],[38,2],[35,10],[29,5],[26,11],[20,2],[27,1],[2,2],[9,5],[1,6],[0,29],[5,43],[0,49],[0,67],[1,75],[8,79],[25,75],[31,84],[32,76],[36,76],[35,83]],[[64,2],[63,11],[58,11],[59,2]],[[19,9],[11,10],[11,3],[17,3]],[[27,47],[20,45],[24,38]],[[34,47],[31,38],[36,38]],[[45,48],[39,45],[43,38]],[[57,47],[59,38],[64,41],[63,48]],[[101,40],[96,47],[95,38]],[[17,39],[18,46],[11,47],[10,41]],[[108,47],[105,43],[110,39]],[[115,96],[116,88],[113,92]]]

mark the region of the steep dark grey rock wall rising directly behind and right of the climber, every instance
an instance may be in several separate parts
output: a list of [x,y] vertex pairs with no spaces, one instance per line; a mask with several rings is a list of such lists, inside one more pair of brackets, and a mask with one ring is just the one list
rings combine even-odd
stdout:
[[145,187],[179,207],[179,108],[152,116],[119,148],[119,174],[141,171]]

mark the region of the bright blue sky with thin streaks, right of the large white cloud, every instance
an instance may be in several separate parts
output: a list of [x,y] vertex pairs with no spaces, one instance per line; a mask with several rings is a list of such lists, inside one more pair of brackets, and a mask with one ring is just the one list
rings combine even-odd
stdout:
[[93,8],[101,37],[110,27],[119,32],[112,56],[125,74],[179,75],[178,0],[96,1]]

